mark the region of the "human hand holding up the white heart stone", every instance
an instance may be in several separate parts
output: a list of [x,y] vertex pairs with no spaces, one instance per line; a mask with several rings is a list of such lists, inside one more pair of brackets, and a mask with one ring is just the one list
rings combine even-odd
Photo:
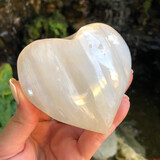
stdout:
[[[131,74],[129,85],[133,79]],[[15,115],[0,134],[0,160],[89,160],[102,142],[122,122],[129,110],[124,96],[107,134],[60,123],[37,109],[11,79],[18,102]]]

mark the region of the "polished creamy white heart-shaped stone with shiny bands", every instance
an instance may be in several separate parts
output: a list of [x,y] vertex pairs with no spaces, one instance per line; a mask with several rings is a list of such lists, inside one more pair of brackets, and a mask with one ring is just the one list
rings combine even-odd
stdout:
[[53,119],[100,133],[113,122],[130,72],[127,44],[102,23],[65,39],[37,40],[18,58],[20,85],[31,103]]

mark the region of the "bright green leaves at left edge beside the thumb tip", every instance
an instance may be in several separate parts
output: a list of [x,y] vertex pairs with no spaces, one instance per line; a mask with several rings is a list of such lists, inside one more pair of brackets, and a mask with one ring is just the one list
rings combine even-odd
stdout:
[[9,86],[11,78],[11,66],[7,63],[0,66],[0,132],[16,110],[16,102]]

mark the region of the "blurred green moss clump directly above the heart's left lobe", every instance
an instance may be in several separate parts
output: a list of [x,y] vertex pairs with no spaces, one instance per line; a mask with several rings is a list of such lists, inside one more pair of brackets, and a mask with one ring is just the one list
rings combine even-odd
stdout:
[[55,11],[49,17],[39,16],[25,25],[24,42],[29,44],[41,38],[63,38],[67,36],[65,17]]

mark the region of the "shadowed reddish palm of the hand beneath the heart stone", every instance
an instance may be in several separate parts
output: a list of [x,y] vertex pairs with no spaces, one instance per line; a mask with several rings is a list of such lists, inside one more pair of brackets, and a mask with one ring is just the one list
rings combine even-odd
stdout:
[[[83,130],[57,121],[41,121],[32,132],[24,159],[82,159],[78,139]],[[27,152],[27,153],[26,153]],[[32,156],[32,157],[31,157]]]

